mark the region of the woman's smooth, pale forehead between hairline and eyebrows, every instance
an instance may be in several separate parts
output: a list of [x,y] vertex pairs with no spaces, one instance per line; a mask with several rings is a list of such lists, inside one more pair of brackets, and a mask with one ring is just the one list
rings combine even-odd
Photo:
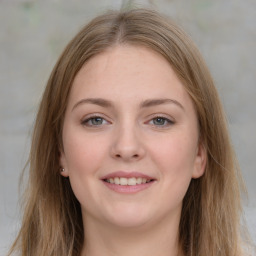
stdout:
[[155,51],[121,45],[91,58],[76,75],[70,99],[103,97],[135,101],[171,97],[191,103],[169,62]]

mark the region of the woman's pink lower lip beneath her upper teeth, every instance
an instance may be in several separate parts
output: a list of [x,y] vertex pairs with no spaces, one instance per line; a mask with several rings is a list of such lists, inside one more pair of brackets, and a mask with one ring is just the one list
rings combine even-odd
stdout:
[[103,181],[103,183],[105,184],[105,186],[107,186],[109,189],[115,192],[123,193],[123,194],[133,194],[151,187],[155,182],[151,181],[149,183],[137,184],[133,186],[117,185],[117,184],[108,183],[106,181]]

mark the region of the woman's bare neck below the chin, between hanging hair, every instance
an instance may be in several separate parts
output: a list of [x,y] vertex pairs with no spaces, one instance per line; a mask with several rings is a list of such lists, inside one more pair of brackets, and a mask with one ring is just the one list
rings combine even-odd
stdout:
[[84,218],[85,242],[81,256],[182,256],[177,223],[174,220],[166,225],[166,221],[160,221],[150,228],[146,225],[122,228]]

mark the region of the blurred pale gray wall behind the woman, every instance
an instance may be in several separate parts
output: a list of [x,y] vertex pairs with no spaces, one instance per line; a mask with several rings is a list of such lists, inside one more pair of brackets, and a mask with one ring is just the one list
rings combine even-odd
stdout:
[[49,73],[82,25],[122,5],[154,6],[173,17],[204,55],[248,185],[244,209],[256,241],[255,0],[0,0],[0,255],[18,230],[18,179]]

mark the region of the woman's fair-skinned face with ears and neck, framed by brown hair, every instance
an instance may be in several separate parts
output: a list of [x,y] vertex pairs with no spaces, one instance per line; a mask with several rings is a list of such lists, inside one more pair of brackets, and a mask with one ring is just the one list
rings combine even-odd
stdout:
[[90,59],[70,92],[60,157],[81,204],[82,256],[182,255],[182,200],[205,168],[198,141],[193,103],[162,56],[125,45]]

